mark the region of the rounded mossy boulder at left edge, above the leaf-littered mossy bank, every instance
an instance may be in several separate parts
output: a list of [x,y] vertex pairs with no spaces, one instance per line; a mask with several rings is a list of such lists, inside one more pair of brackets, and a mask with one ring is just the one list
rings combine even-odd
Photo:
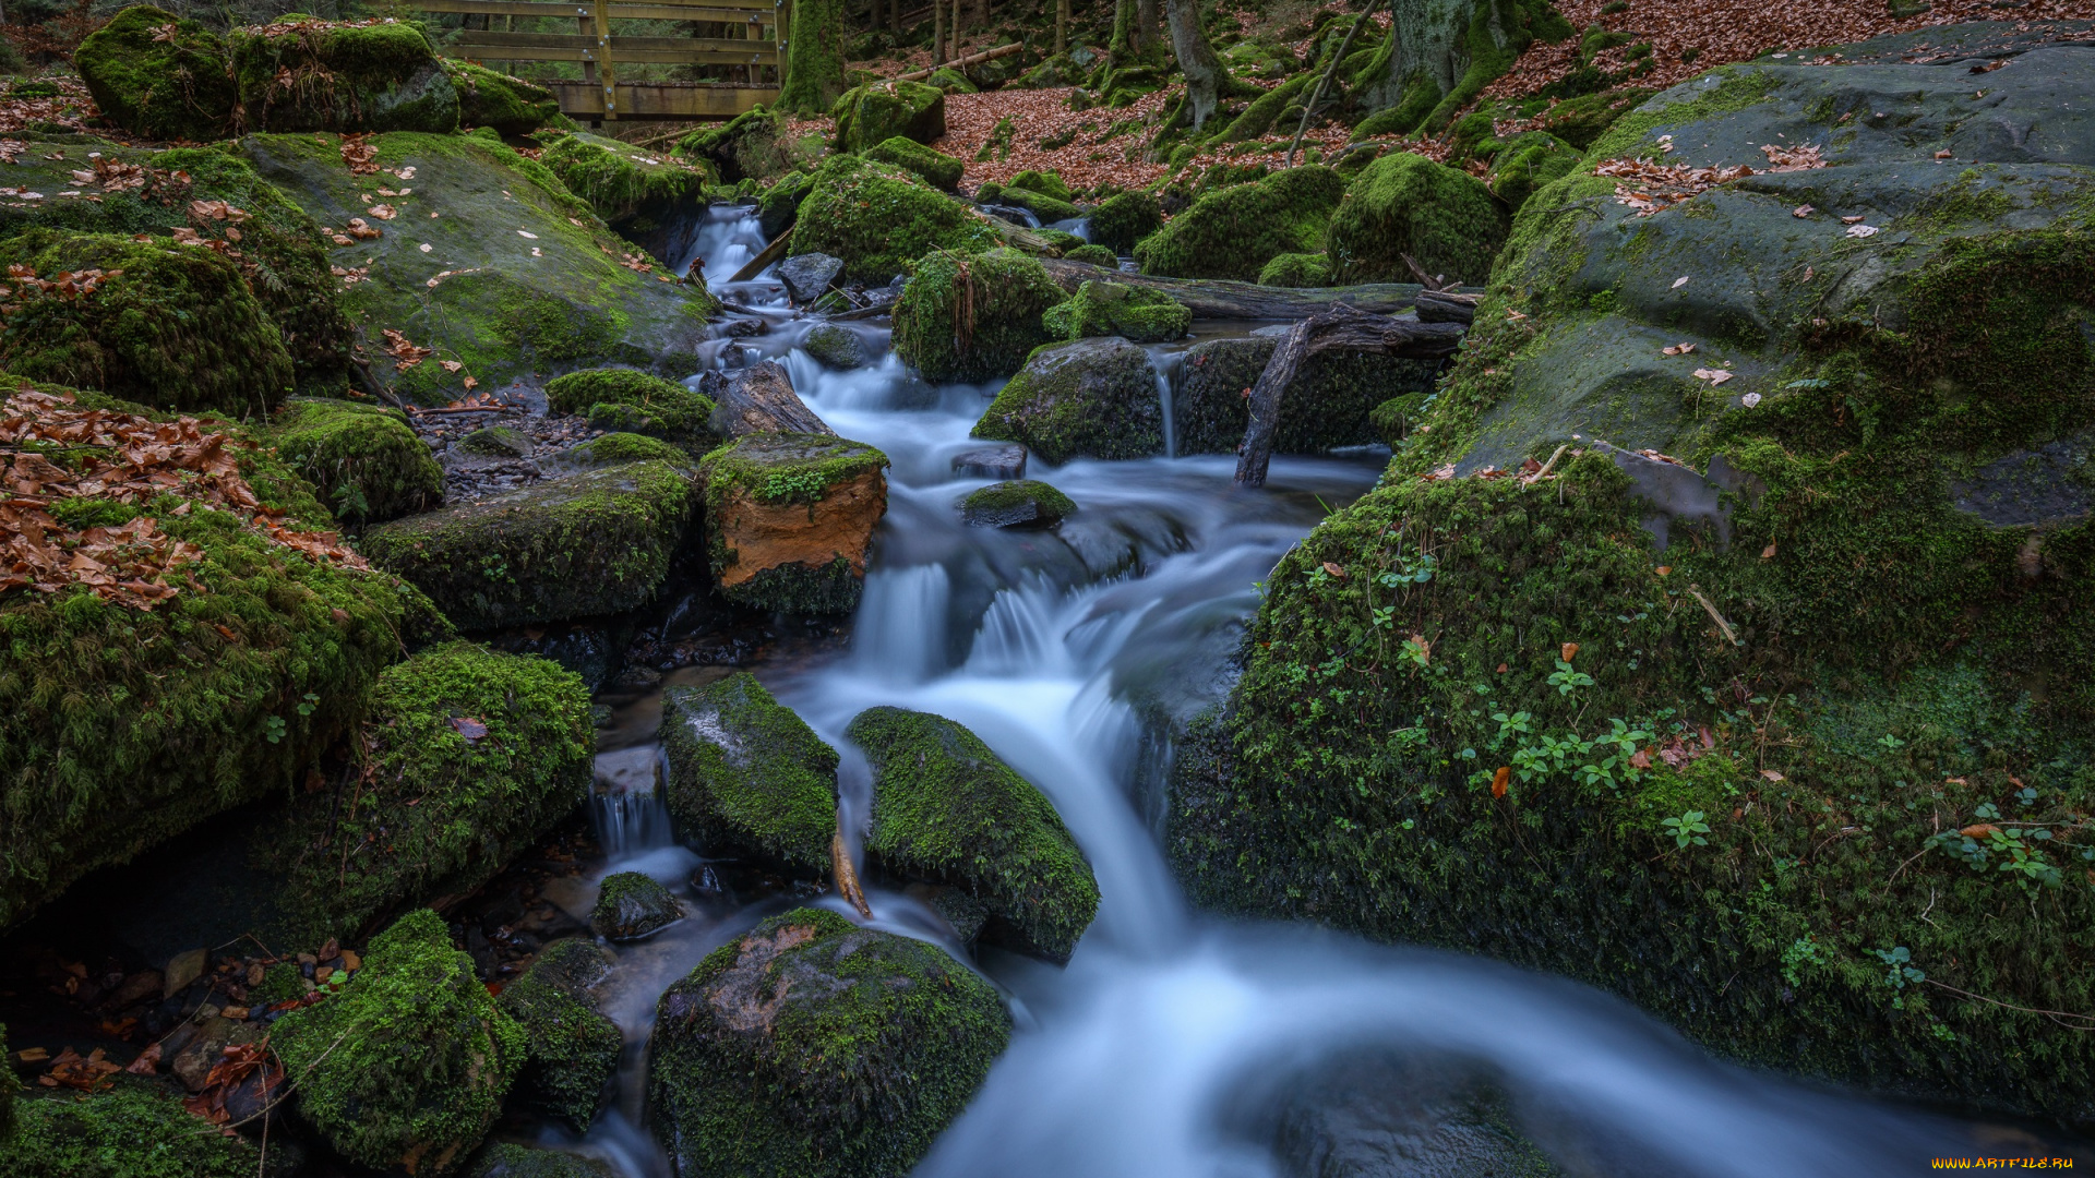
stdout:
[[[266,413],[291,392],[283,335],[230,258],[31,228],[0,241],[0,264],[17,306],[0,321],[4,371],[191,413]],[[80,289],[92,270],[101,275]]]

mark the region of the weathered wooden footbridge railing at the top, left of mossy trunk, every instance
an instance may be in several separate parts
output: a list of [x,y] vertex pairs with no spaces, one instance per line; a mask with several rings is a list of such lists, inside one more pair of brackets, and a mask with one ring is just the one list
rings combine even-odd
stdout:
[[[580,82],[545,82],[578,119],[727,119],[777,99],[779,34],[788,0],[413,0],[423,13],[482,17],[444,52],[476,61],[576,61]],[[494,17],[505,17],[494,29]],[[574,21],[572,34],[513,31],[517,17]],[[614,19],[704,21],[729,36],[612,34]],[[740,65],[748,82],[620,82],[618,65]]]

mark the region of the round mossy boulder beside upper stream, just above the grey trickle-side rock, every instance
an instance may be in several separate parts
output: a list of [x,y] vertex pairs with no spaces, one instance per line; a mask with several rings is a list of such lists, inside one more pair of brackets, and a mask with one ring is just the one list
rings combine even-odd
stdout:
[[1041,312],[1062,287],[1016,249],[936,252],[918,262],[895,304],[895,354],[928,381],[1008,377],[1054,340]]

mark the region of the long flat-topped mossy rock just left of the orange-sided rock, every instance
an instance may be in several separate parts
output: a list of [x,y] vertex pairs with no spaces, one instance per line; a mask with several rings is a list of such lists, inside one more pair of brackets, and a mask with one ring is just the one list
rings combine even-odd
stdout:
[[691,470],[585,470],[365,532],[379,568],[467,631],[618,614],[654,599],[698,505]]

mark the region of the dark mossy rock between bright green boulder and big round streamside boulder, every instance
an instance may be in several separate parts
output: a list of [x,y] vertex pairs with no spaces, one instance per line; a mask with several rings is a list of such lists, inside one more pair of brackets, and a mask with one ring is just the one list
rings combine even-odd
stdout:
[[524,1029],[517,1098],[534,1111],[589,1130],[608,1103],[624,1035],[591,987],[610,977],[603,950],[587,939],[553,941],[497,1006]]

